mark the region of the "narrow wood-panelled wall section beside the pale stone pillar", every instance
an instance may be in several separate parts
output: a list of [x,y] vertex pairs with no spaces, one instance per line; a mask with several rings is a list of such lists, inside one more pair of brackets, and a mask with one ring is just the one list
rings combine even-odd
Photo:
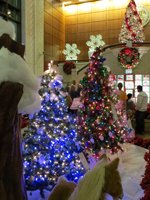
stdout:
[[[55,1],[53,1],[55,2]],[[59,3],[44,1],[44,61],[45,69],[50,60],[64,60],[65,17]]]

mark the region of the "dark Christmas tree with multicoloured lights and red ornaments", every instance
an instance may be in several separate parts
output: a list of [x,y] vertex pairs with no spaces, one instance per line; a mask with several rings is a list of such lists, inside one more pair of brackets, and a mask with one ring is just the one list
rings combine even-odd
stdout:
[[108,149],[115,153],[126,141],[130,129],[121,116],[118,96],[113,91],[113,75],[103,65],[97,49],[91,57],[87,73],[81,80],[81,106],[78,111],[78,136],[87,154],[100,157]]

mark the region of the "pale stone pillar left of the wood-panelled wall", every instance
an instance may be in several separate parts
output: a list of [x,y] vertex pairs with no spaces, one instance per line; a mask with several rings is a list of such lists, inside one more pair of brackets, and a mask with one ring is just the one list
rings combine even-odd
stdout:
[[25,59],[36,75],[44,68],[44,0],[22,0]]

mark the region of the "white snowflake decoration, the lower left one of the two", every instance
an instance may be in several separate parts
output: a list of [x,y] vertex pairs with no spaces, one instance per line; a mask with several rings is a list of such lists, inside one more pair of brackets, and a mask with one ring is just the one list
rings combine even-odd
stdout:
[[76,44],[66,43],[66,49],[63,50],[63,54],[66,56],[66,60],[77,60],[77,55],[80,54],[80,50],[77,49]]

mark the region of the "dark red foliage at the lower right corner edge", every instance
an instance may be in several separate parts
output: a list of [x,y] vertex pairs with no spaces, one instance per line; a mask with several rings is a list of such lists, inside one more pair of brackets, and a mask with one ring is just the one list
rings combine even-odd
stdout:
[[150,199],[150,150],[145,153],[144,156],[145,161],[147,162],[145,167],[145,174],[141,182],[141,187],[144,190],[144,197],[141,200],[149,200]]

